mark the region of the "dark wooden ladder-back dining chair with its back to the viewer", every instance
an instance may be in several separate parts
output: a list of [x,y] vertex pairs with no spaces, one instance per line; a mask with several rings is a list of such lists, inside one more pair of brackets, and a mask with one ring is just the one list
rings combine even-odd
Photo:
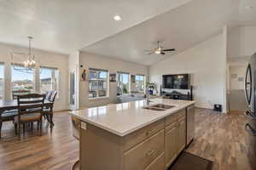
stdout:
[[42,116],[44,109],[44,94],[18,95],[18,116],[15,116],[15,133],[20,138],[20,126],[23,125],[23,135],[25,134],[26,123],[38,122],[40,136],[42,135]]

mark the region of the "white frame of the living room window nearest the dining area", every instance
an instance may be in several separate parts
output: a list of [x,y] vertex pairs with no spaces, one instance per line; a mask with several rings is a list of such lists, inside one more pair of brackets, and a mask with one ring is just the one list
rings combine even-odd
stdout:
[[[106,79],[106,82],[107,82],[107,88],[106,88],[107,89],[107,94],[106,94],[106,96],[98,96],[98,93],[97,93],[96,97],[90,98],[90,96],[89,96],[89,94],[90,94],[90,81],[93,80],[93,79],[90,79],[90,71],[104,71],[104,72],[107,73],[107,79]],[[96,81],[100,81],[100,78],[96,78]],[[97,89],[96,91],[99,91],[99,90]],[[109,98],[109,71],[105,70],[105,69],[96,69],[96,68],[90,67],[88,69],[88,99],[106,99],[106,98]]]

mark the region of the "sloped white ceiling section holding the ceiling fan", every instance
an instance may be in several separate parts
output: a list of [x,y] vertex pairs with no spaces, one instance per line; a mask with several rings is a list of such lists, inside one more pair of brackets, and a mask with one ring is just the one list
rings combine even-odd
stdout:
[[234,2],[237,0],[192,0],[82,50],[152,65],[175,54],[148,55],[143,51],[154,48],[158,40],[180,53],[217,35],[223,26],[237,24],[239,3]]

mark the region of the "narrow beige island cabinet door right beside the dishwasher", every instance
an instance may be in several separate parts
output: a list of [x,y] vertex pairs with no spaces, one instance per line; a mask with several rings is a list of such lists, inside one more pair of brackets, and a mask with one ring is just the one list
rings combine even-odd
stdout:
[[177,142],[177,154],[179,154],[186,146],[186,119],[183,118],[178,122],[178,142]]

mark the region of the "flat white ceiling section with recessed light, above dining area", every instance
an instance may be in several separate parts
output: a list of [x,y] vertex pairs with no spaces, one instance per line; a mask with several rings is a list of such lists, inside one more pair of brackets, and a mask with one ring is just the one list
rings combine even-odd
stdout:
[[0,0],[0,42],[70,54],[189,1]]

